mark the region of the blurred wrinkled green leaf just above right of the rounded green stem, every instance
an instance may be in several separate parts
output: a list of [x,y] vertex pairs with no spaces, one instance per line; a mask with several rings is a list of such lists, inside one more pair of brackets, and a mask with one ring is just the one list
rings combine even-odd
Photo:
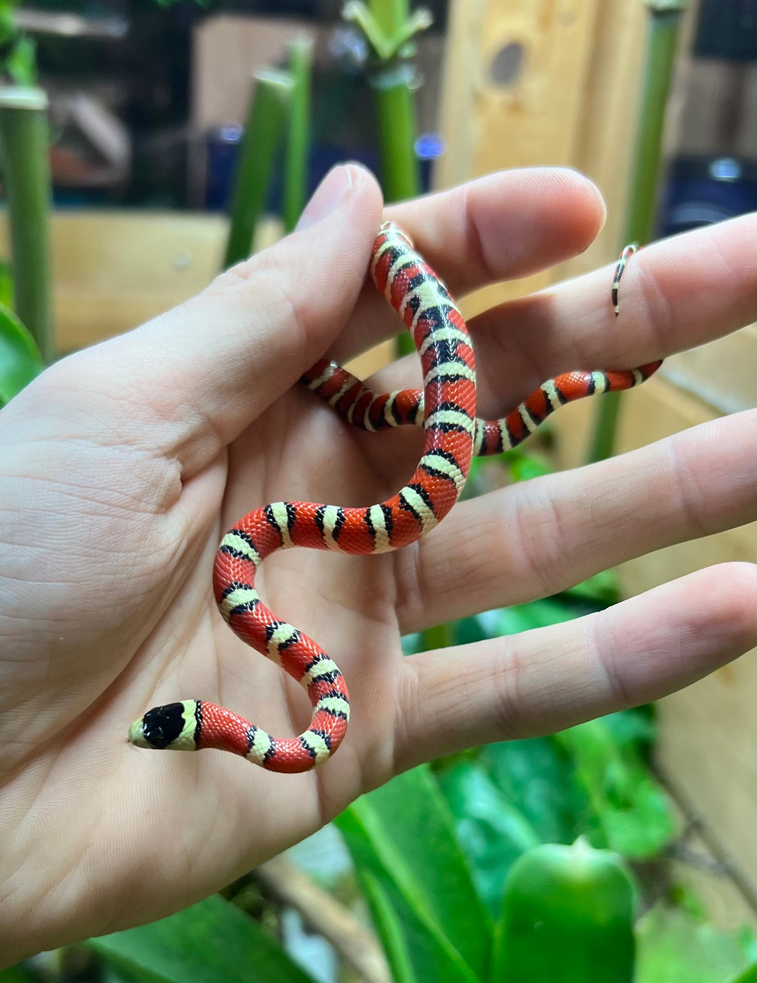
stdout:
[[634,747],[621,748],[603,718],[555,738],[572,757],[611,849],[635,859],[659,853],[675,835],[670,800]]

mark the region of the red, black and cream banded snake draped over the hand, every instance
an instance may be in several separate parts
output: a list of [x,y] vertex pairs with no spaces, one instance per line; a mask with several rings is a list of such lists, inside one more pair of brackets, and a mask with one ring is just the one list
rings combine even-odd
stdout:
[[[313,639],[262,604],[255,589],[262,560],[277,549],[292,547],[367,554],[415,543],[454,505],[474,454],[514,447],[558,406],[595,392],[631,388],[661,364],[556,376],[502,420],[477,420],[475,361],[465,322],[437,274],[392,223],[379,230],[371,275],[413,335],[421,357],[423,391],[377,394],[326,360],[320,360],[302,381],[355,427],[379,431],[422,424],[423,455],[413,477],[392,498],[367,508],[299,501],[258,508],[224,536],[213,571],[222,617],[243,641],[306,689],[314,708],[310,726],[298,737],[273,737],[223,707],[184,700],[155,707],[133,723],[131,743],[166,750],[216,748],[268,771],[289,774],[326,761],[347,729],[347,686],[337,665]],[[615,287],[617,279],[616,273]]]

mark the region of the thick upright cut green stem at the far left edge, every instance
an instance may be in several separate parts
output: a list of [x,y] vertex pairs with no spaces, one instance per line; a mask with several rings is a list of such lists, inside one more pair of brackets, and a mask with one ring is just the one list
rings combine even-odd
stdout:
[[45,362],[55,358],[50,258],[47,96],[0,87],[0,145],[8,200],[16,314]]

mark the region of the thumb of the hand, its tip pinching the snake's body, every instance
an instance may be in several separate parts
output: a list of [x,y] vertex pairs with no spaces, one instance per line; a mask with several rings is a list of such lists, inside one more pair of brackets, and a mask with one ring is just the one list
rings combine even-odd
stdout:
[[119,426],[128,420],[135,440],[177,455],[191,477],[336,336],[365,281],[380,206],[367,171],[334,168],[298,231],[181,307],[66,360],[58,377],[88,388],[102,380],[103,396],[117,396]]

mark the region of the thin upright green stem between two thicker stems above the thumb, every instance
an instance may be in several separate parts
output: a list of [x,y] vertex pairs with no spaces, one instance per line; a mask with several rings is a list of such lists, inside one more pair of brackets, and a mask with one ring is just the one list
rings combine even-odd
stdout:
[[289,47],[293,89],[284,160],[284,228],[291,232],[305,207],[310,155],[311,74],[313,42],[297,38]]

